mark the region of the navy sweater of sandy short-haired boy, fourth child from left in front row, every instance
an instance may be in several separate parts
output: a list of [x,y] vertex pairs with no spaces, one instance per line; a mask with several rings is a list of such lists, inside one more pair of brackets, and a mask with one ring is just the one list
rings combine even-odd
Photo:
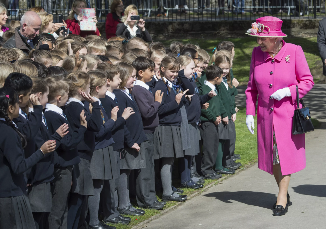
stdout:
[[84,134],[87,129],[82,125],[79,128],[72,129],[68,120],[52,110],[46,111],[44,116],[50,134],[54,134],[62,124],[68,124],[67,131],[69,131],[69,133],[61,139],[59,148],[53,152],[54,167],[64,168],[80,163],[81,159],[79,157],[77,146],[84,139]]

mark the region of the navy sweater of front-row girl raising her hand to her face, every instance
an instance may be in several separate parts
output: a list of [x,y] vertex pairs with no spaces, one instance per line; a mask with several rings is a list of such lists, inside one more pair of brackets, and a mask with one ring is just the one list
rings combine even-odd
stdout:
[[71,129],[79,129],[81,126],[80,113],[85,111],[87,130],[84,133],[84,138],[78,144],[77,149],[79,156],[86,160],[91,160],[95,149],[95,133],[101,130],[102,118],[100,112],[100,105],[98,102],[92,103],[92,114],[89,112],[88,106],[82,106],[78,102],[70,102],[66,106],[63,106],[63,111],[67,116],[67,120],[70,123]]

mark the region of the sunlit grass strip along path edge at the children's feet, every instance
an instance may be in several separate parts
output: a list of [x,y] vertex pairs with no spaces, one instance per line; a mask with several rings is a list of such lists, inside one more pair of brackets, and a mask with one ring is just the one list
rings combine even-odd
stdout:
[[[241,155],[241,160],[238,160],[237,162],[241,162],[244,167],[245,165],[248,165],[249,163],[257,161],[257,133],[252,135],[247,129],[247,126],[245,124],[245,108],[240,108],[240,111],[237,113],[237,120],[235,121],[235,127],[236,127],[236,145],[235,145],[235,153]],[[254,117],[255,123],[256,117]],[[238,171],[241,171],[241,168],[238,169]],[[220,180],[220,179],[219,179]],[[205,186],[211,184],[211,183],[217,183],[219,180],[205,180]],[[184,195],[191,195],[195,192],[200,192],[199,190],[191,190],[191,189],[183,189],[185,192]],[[157,193],[158,194],[158,193]],[[158,195],[157,198],[160,200],[161,195]],[[137,208],[136,203],[133,202],[134,207]],[[168,202],[165,207],[162,209],[169,208],[171,206],[176,205],[176,202]],[[136,224],[147,220],[151,216],[154,216],[156,214],[160,214],[162,210],[149,210],[144,209],[146,211],[145,215],[143,216],[131,216],[131,222],[128,225],[121,225],[121,224],[110,224],[110,226],[115,226],[117,229],[127,229],[135,226]]]

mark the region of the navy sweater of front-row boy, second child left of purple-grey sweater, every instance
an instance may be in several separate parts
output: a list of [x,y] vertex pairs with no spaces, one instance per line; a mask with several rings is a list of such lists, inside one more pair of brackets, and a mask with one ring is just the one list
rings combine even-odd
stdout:
[[[118,104],[108,95],[105,95],[105,98],[100,98],[100,101],[102,103],[102,106],[107,112],[107,116],[109,119],[111,119],[111,110],[113,107],[118,106]],[[118,100],[119,103],[119,100]],[[118,110],[117,114],[117,120],[115,121],[115,124],[112,128],[112,138],[113,138],[113,150],[120,150],[124,148],[124,142],[127,142],[128,147],[132,147],[134,145],[134,142],[132,142],[132,138],[129,134],[128,129],[126,128],[125,125],[125,119],[121,117],[123,113],[123,110],[120,109]],[[125,133],[128,132],[128,133]],[[125,139],[125,135],[129,136],[128,139]]]

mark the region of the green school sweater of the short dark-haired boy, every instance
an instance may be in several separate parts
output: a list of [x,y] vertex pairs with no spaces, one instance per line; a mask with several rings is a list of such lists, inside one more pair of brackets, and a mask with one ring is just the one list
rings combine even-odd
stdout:
[[[212,89],[205,84],[202,85],[201,89],[202,92],[200,92],[200,95],[207,94],[210,91],[212,91]],[[207,122],[207,121],[215,122],[216,117],[218,117],[219,115],[222,118],[228,116],[222,104],[220,93],[217,93],[217,95],[214,96],[210,101],[208,101],[208,103],[209,103],[209,107],[207,108],[207,110],[201,109],[201,116],[200,116],[201,122]]]

